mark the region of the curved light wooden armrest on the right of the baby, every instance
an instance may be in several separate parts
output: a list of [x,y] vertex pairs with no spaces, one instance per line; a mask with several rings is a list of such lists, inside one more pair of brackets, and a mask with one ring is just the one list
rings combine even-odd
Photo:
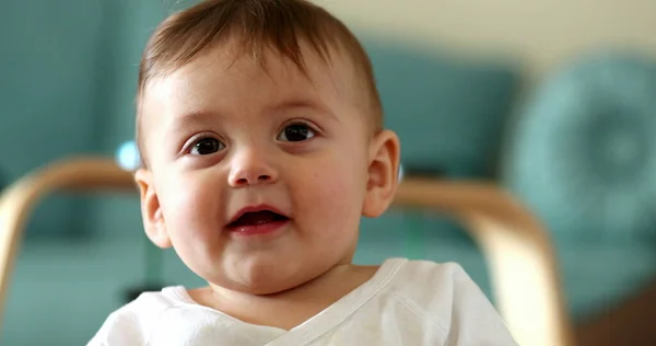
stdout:
[[500,313],[519,345],[573,345],[549,237],[508,193],[493,184],[407,178],[395,205],[431,208],[465,224],[489,262]]

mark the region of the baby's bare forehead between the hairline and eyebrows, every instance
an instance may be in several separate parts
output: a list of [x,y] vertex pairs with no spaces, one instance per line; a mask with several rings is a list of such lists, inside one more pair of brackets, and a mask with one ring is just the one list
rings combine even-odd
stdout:
[[141,113],[162,106],[166,113],[195,112],[218,103],[244,106],[293,96],[355,105],[361,97],[353,97],[356,80],[349,59],[337,51],[324,59],[314,49],[301,48],[305,71],[273,50],[256,58],[230,46],[209,48],[171,74],[151,80]]

